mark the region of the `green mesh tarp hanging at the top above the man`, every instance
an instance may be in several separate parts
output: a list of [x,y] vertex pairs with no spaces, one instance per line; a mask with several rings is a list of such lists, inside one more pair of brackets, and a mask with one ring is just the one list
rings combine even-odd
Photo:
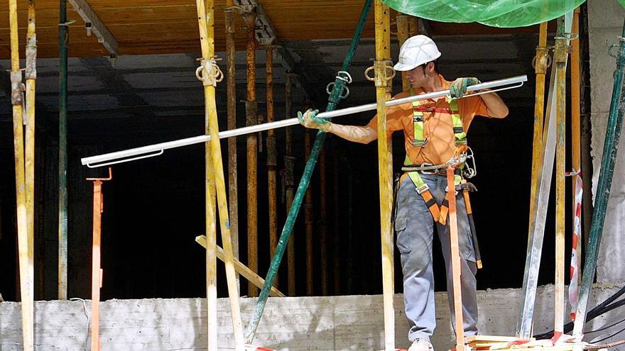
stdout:
[[[585,0],[382,0],[396,11],[440,22],[525,27],[550,21]],[[625,0],[618,0],[625,6]]]

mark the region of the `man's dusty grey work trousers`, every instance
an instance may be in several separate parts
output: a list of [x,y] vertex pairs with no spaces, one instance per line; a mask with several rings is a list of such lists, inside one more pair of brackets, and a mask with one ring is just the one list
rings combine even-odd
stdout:
[[[447,178],[441,175],[422,174],[423,181],[430,186],[430,192],[440,206],[445,198]],[[434,275],[432,269],[432,240],[434,225],[442,246],[447,272],[447,299],[449,300],[452,323],[454,321],[453,285],[450,260],[449,216],[447,225],[434,223],[425,201],[417,193],[410,177],[401,182],[396,199],[395,230],[397,247],[401,253],[403,271],[403,301],[406,317],[411,322],[408,339],[429,339],[436,326],[434,310]],[[475,273],[475,252],[467,208],[462,193],[456,196],[458,218],[458,243],[460,245],[462,316],[464,335],[477,334],[477,296]]]

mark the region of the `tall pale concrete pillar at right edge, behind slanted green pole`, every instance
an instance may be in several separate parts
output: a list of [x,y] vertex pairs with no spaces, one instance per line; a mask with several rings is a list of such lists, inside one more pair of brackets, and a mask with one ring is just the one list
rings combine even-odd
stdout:
[[[616,1],[587,1],[590,89],[592,121],[592,174],[593,194],[603,152],[607,116],[614,84],[614,57],[608,54],[609,45],[618,44],[625,9]],[[622,139],[622,138],[621,138]],[[607,208],[604,233],[597,262],[597,282],[622,282],[625,280],[625,147],[618,153],[612,191]],[[585,179],[587,181],[588,179]]]

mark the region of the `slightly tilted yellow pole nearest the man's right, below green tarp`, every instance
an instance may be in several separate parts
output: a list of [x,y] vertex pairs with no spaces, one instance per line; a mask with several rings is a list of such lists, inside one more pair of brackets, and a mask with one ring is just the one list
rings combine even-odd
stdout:
[[[543,121],[545,110],[545,74],[549,52],[547,49],[547,23],[540,23],[540,33],[538,35],[538,48],[536,48],[536,61],[534,63],[536,72],[536,91],[534,99],[534,135],[532,141],[532,173],[530,185],[530,223],[533,218],[536,192],[538,191],[538,179],[540,178],[539,168],[541,165],[540,155],[543,145]],[[531,224],[530,224],[531,225]]]

